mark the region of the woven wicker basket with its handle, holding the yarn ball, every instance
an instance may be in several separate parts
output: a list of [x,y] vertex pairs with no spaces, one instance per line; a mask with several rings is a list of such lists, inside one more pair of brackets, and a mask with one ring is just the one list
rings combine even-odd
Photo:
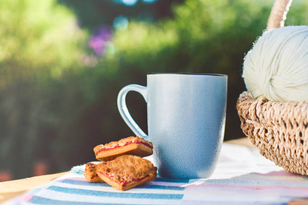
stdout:
[[[290,0],[276,0],[267,29],[284,25]],[[260,153],[289,172],[308,175],[308,101],[275,102],[243,92],[237,101],[241,128]]]

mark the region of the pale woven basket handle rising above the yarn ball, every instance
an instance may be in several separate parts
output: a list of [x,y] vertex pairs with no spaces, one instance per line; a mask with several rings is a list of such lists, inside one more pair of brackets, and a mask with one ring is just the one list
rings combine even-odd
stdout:
[[268,18],[267,28],[269,31],[271,29],[282,28],[284,26],[284,21],[286,20],[286,15],[291,6],[292,0],[276,0],[271,14]]

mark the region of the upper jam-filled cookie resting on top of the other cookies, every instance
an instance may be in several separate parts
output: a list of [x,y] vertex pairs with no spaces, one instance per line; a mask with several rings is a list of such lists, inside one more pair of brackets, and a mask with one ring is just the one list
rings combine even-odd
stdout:
[[98,145],[93,150],[96,159],[100,161],[109,161],[124,154],[131,154],[139,157],[152,155],[153,145],[151,142],[141,137],[128,137],[117,142]]

